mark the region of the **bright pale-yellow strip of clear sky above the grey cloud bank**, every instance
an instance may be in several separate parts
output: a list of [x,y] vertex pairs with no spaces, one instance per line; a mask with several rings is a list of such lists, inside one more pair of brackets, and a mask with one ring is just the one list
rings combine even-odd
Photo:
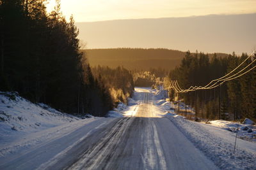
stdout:
[[[55,0],[49,0],[51,11]],[[61,10],[76,22],[229,15],[256,12],[255,0],[62,0]]]

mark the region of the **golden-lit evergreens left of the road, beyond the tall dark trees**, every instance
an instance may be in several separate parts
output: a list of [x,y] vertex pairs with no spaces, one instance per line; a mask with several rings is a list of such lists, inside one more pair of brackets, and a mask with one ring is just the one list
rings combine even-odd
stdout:
[[134,81],[130,71],[120,66],[116,68],[97,66],[92,67],[92,72],[98,81],[108,87],[115,105],[119,102],[127,104],[128,97],[131,97],[134,91]]

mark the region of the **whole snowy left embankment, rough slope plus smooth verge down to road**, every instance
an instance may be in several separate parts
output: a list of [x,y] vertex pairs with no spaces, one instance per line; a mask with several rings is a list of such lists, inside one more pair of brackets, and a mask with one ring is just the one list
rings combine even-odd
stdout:
[[81,120],[18,94],[0,92],[0,159],[60,138],[95,119]]

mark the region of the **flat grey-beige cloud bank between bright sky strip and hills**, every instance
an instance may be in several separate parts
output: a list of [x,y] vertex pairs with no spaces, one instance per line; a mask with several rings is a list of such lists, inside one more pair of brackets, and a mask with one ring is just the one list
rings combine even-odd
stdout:
[[78,22],[86,48],[168,48],[183,52],[251,53],[256,13]]

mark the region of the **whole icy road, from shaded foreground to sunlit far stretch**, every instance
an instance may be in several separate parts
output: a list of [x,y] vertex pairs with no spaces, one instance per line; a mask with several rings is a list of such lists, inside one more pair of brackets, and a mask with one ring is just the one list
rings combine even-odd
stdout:
[[[137,89],[130,117],[99,118],[12,159],[0,169],[218,169]],[[134,109],[133,109],[134,108]]]

